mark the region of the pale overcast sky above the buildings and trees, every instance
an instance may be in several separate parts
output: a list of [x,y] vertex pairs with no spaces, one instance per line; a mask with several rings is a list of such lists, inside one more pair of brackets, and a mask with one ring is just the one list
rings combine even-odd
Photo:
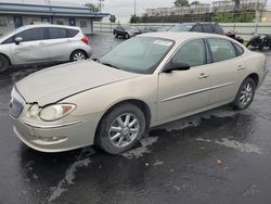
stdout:
[[[25,1],[25,2],[44,2],[50,0],[0,0],[5,2],[11,1]],[[175,0],[136,0],[137,1],[137,14],[143,14],[145,9],[147,8],[160,8],[160,7],[172,7]],[[190,2],[193,0],[189,0]],[[201,2],[210,3],[215,0],[199,0]],[[51,2],[57,2],[57,4],[62,4],[62,2],[70,2],[72,4],[85,4],[87,2],[90,3],[99,3],[99,0],[51,0]],[[134,0],[104,0],[103,2],[103,12],[108,12],[111,14],[115,14],[117,21],[120,23],[127,23],[133,14]],[[271,0],[268,0],[268,8],[271,10]]]

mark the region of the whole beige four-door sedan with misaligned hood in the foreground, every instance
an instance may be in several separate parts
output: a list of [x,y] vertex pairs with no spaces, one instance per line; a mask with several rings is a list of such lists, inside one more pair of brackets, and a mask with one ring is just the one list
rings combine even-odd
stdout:
[[96,61],[43,69],[16,82],[10,115],[14,132],[35,150],[96,144],[119,154],[150,127],[228,103],[248,107],[267,73],[262,53],[231,38],[149,33]]

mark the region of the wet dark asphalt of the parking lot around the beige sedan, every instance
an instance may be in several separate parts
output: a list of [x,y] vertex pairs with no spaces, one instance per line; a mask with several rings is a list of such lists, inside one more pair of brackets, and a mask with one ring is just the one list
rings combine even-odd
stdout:
[[[93,58],[122,41],[90,40]],[[271,72],[271,52],[264,53]],[[40,153],[15,137],[10,91],[38,69],[0,75],[0,204],[271,203],[271,73],[246,111],[225,105],[159,126],[113,156],[92,146]]]

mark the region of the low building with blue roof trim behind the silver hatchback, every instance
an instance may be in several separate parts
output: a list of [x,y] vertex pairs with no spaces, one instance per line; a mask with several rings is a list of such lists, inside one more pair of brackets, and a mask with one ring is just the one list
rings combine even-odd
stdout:
[[96,13],[88,7],[43,0],[0,0],[0,35],[14,28],[36,22],[81,27],[85,34],[93,33],[93,21],[107,16]]

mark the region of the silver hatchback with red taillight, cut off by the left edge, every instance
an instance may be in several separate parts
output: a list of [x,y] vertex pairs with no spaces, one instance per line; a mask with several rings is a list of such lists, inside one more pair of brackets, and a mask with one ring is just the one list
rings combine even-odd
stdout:
[[78,27],[28,25],[0,38],[0,72],[11,65],[80,61],[90,55],[88,38]]

